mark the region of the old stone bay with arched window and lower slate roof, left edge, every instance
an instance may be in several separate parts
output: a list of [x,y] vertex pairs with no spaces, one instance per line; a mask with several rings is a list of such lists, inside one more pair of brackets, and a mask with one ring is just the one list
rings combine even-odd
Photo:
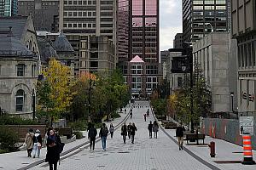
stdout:
[[36,95],[38,55],[12,31],[0,31],[0,106],[7,113],[32,117]]

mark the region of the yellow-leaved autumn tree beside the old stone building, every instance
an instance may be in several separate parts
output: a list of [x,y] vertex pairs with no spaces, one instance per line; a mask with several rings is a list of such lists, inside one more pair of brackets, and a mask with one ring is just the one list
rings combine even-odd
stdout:
[[66,113],[67,107],[72,103],[73,94],[70,89],[73,82],[70,68],[55,59],[49,60],[49,66],[43,71],[43,75],[44,82],[38,83],[38,109],[50,117],[52,125],[52,121]]

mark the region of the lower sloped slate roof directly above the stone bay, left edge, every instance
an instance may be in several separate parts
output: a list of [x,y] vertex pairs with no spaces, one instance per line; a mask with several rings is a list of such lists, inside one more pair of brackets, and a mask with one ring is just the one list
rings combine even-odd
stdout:
[[26,46],[24,46],[18,37],[12,35],[11,31],[8,34],[0,32],[0,56],[34,56]]

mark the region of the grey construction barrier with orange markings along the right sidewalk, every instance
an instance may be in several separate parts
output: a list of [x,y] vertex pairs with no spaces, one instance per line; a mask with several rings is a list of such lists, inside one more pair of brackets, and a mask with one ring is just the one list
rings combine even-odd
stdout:
[[[253,149],[256,150],[256,120],[254,119],[254,135],[252,136]],[[230,143],[242,145],[239,120],[205,118],[201,126],[201,133],[216,139],[224,139]]]

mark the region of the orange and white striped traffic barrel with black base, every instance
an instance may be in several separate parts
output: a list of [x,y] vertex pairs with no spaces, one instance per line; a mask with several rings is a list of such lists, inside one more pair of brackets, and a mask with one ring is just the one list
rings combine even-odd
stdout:
[[253,151],[252,151],[252,137],[250,134],[242,135],[242,144],[243,144],[243,161],[241,164],[243,165],[253,165],[255,161],[253,161]]

